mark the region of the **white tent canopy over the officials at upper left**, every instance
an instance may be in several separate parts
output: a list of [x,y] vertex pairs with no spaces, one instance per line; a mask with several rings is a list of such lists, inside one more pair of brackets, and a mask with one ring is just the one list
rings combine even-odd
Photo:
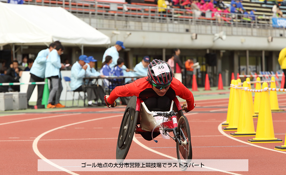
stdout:
[[110,38],[61,7],[0,2],[0,46],[67,44],[106,45]]

